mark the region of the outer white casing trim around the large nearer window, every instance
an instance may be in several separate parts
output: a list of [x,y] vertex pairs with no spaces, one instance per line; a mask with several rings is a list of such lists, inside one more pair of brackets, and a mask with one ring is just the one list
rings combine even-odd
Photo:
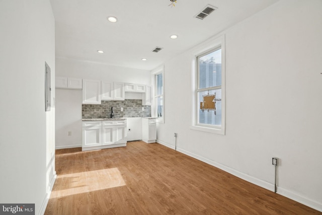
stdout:
[[[198,110],[198,104],[197,104],[197,86],[198,86],[198,77],[196,74],[197,71],[197,62],[196,57],[200,55],[201,53],[205,53],[208,50],[211,50],[215,47],[221,46],[221,126],[220,129],[216,127],[207,127],[207,126],[198,126],[197,123],[197,110]],[[225,74],[226,74],[226,61],[225,61],[225,35],[219,35],[215,37],[214,39],[208,41],[207,43],[203,44],[201,48],[195,48],[192,54],[192,61],[191,61],[191,96],[192,96],[192,112],[191,112],[191,129],[195,130],[201,130],[205,132],[212,132],[212,133],[218,133],[218,134],[225,134],[226,129],[226,85],[225,85]],[[218,127],[218,126],[217,126]]]

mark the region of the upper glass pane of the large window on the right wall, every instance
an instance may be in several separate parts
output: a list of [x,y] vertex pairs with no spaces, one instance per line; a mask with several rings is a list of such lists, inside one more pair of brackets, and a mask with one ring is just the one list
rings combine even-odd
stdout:
[[198,57],[199,89],[221,86],[221,49]]

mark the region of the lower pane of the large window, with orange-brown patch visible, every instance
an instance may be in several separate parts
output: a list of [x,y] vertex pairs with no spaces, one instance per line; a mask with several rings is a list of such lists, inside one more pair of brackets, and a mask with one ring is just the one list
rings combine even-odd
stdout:
[[198,92],[198,123],[221,126],[221,89]]

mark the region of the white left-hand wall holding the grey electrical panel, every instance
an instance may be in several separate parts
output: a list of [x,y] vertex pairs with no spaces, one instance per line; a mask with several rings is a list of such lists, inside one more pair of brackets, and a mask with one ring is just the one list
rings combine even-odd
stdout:
[[[0,2],[0,202],[43,213],[54,171],[55,108],[45,112],[45,61],[54,86],[49,0]],[[52,102],[55,90],[52,89]]]

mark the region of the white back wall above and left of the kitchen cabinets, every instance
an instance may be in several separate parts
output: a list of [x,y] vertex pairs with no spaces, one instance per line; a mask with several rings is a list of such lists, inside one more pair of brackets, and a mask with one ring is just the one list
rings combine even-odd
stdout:
[[[150,72],[147,70],[64,58],[56,58],[56,76],[146,85],[151,84]],[[82,91],[60,89],[56,91],[56,149],[81,147]],[[142,95],[126,93],[125,98],[140,99]],[[128,120],[128,123],[131,124],[131,122],[131,120]],[[139,131],[135,130],[128,133],[130,138],[137,138]],[[68,131],[72,131],[71,136],[67,135]]]

